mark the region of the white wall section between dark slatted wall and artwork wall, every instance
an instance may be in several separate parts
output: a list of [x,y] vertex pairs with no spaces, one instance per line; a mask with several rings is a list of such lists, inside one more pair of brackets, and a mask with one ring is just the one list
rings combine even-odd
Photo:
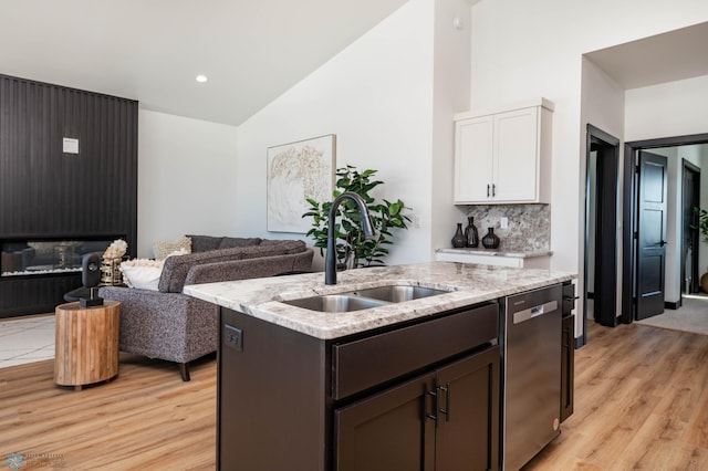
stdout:
[[233,236],[237,128],[140,109],[137,255],[187,233]]

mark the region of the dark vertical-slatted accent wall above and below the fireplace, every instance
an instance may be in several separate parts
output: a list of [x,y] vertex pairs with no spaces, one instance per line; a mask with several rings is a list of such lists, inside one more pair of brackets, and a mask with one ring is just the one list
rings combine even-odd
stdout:
[[[137,107],[133,100],[0,75],[0,239],[124,236],[135,257]],[[64,137],[79,139],[77,155],[63,153]],[[19,285],[33,304],[62,302],[56,291],[66,281],[58,278],[0,279],[0,317],[28,313],[13,294]],[[74,287],[81,284],[73,279]]]

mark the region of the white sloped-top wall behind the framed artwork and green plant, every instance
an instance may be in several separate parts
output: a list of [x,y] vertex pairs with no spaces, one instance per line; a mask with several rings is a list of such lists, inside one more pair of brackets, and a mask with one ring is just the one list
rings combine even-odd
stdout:
[[413,208],[409,216],[420,216],[421,228],[394,234],[387,263],[430,260],[434,13],[433,0],[408,1],[239,126],[233,214],[240,236],[305,238],[267,232],[266,151],[336,134],[337,167],[378,169],[385,185],[376,196],[400,198]]

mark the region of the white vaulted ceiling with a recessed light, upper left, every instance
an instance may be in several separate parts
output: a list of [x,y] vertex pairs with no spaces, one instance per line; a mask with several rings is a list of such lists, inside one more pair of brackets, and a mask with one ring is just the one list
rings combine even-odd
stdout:
[[239,125],[405,2],[3,1],[0,74]]

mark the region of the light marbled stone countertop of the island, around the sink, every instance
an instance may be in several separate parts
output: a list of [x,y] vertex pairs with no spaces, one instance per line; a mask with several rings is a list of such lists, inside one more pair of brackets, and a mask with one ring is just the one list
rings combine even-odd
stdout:
[[[185,286],[184,292],[316,338],[332,339],[562,283],[574,278],[575,275],[570,273],[549,270],[428,262],[347,270],[337,273],[336,285],[329,286],[324,284],[324,273],[317,272],[192,284]],[[391,284],[450,292],[348,313],[313,312],[279,302]]]

